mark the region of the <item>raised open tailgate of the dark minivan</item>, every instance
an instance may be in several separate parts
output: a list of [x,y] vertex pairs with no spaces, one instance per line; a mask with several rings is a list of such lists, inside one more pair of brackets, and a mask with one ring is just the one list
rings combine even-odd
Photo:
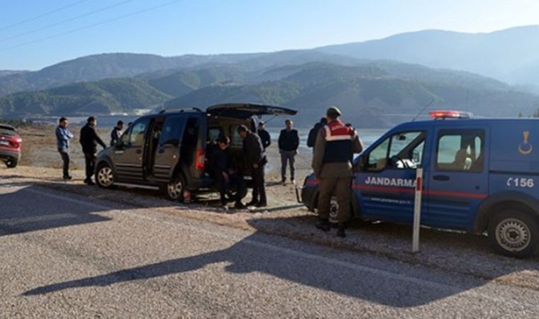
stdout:
[[294,116],[298,113],[291,108],[269,106],[252,103],[226,103],[210,106],[206,113],[211,116],[226,116],[230,118],[250,118],[252,116]]

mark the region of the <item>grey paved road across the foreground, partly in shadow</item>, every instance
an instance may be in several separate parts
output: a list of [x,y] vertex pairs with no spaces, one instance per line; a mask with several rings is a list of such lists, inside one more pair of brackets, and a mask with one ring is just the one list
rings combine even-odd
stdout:
[[539,292],[0,179],[0,317],[537,318]]

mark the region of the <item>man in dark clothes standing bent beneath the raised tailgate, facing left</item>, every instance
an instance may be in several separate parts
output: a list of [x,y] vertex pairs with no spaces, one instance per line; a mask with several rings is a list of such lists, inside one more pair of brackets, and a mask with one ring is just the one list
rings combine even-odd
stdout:
[[245,167],[251,170],[252,201],[247,206],[267,206],[266,186],[264,181],[264,166],[267,164],[264,147],[260,137],[252,133],[247,126],[240,125],[238,133],[243,138],[243,155]]

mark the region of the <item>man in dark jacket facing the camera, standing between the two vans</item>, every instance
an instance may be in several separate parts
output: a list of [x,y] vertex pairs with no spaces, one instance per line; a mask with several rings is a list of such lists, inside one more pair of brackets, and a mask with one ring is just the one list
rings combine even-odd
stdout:
[[296,167],[294,167],[294,158],[298,154],[299,148],[299,133],[292,128],[291,120],[284,121],[287,128],[281,130],[279,134],[279,153],[281,154],[281,177],[282,182],[287,181],[287,163],[290,164],[290,180],[292,184],[296,183],[294,173]]

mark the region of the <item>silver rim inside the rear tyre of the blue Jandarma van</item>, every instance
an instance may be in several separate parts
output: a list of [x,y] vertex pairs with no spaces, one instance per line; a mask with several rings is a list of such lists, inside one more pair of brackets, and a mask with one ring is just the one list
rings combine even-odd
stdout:
[[522,220],[506,218],[496,226],[496,241],[505,250],[524,250],[530,245],[530,229]]

